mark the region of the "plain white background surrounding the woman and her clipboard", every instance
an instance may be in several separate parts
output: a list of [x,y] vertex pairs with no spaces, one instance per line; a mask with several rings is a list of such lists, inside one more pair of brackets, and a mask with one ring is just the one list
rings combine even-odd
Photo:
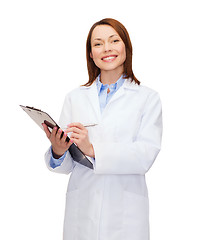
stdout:
[[43,109],[58,120],[65,94],[87,81],[87,34],[105,17],[126,26],[134,73],[163,103],[162,151],[147,174],[151,239],[201,239],[196,0],[1,1],[0,239],[62,239],[69,176],[48,171],[49,142],[18,105]]

